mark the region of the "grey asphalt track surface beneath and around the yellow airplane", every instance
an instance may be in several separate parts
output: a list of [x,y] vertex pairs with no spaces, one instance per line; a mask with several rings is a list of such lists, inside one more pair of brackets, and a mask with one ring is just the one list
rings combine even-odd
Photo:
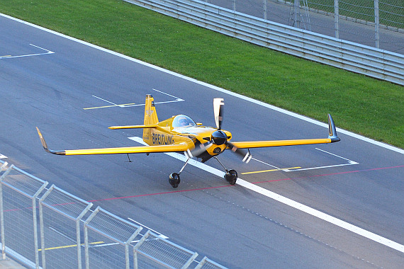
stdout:
[[228,268],[403,265],[403,150],[337,129],[341,142],[254,149],[249,164],[226,151],[220,160],[241,178],[234,186],[214,159],[191,161],[177,189],[168,176],[184,164],[178,156],[47,154],[35,126],[51,149],[140,145],[141,130],[107,127],[142,124],[147,93],[159,120],[184,113],[206,125],[213,98],[225,98],[233,141],[322,138],[327,129],[4,16],[0,25],[4,161]]

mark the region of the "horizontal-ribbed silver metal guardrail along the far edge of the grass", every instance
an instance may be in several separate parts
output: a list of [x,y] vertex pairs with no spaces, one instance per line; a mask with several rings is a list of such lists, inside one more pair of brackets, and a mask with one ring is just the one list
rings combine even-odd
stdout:
[[225,35],[404,85],[404,55],[266,21],[198,0],[123,0]]

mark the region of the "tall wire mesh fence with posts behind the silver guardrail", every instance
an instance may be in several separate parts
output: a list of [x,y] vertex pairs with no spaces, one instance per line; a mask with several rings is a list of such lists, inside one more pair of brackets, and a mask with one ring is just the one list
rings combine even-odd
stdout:
[[404,55],[403,0],[201,0]]

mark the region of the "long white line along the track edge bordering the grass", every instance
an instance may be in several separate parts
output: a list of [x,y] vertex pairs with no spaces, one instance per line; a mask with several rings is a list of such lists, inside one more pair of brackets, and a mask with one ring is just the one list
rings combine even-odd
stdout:
[[[255,103],[255,104],[257,104],[257,105],[262,105],[262,106],[265,107],[265,108],[269,108],[269,109],[271,109],[271,110],[276,110],[276,111],[278,111],[278,112],[280,112],[280,113],[284,113],[284,114],[290,115],[290,116],[292,116],[292,117],[294,117],[294,118],[298,118],[298,119],[301,119],[301,120],[305,120],[306,122],[311,122],[311,123],[314,123],[315,125],[320,125],[320,126],[325,127],[325,128],[328,129],[328,125],[327,125],[327,124],[325,124],[325,123],[323,123],[323,122],[319,122],[318,120],[313,120],[313,119],[310,119],[310,118],[308,118],[308,117],[305,117],[305,116],[302,116],[302,115],[298,115],[298,114],[296,114],[296,113],[293,113],[293,112],[291,112],[291,111],[284,110],[284,109],[282,109],[282,108],[277,108],[277,107],[274,106],[274,105],[269,105],[269,104],[267,104],[267,103],[254,100],[253,98],[249,98],[249,97],[246,97],[246,96],[242,96],[242,95],[239,94],[239,93],[233,93],[233,92],[231,92],[231,91],[225,90],[224,88],[219,88],[218,86],[213,86],[213,85],[211,85],[211,84],[207,84],[206,82],[198,81],[198,80],[196,80],[196,79],[192,79],[192,78],[190,78],[189,76],[184,76],[184,75],[178,74],[178,73],[176,73],[176,72],[174,72],[174,71],[169,71],[169,70],[164,69],[164,68],[162,68],[162,67],[157,67],[157,66],[155,66],[155,65],[153,65],[153,64],[149,64],[149,63],[147,63],[147,62],[140,61],[139,59],[135,59],[135,58],[132,58],[132,57],[129,57],[129,56],[120,54],[120,53],[118,53],[118,52],[113,52],[112,50],[107,50],[106,48],[99,47],[99,46],[97,46],[97,45],[91,44],[91,43],[89,43],[89,42],[85,42],[85,41],[83,41],[83,40],[79,40],[79,39],[77,39],[77,38],[72,38],[72,37],[70,37],[70,36],[68,36],[68,35],[63,35],[62,33],[57,33],[57,32],[54,31],[54,30],[50,30],[50,29],[44,28],[44,27],[42,27],[42,26],[35,25],[35,24],[33,24],[33,23],[28,23],[27,21],[23,21],[23,20],[20,20],[20,19],[18,19],[18,18],[13,18],[13,17],[8,16],[8,15],[3,14],[3,13],[0,13],[0,16],[3,16],[4,18],[9,18],[10,20],[13,20],[13,21],[18,21],[19,23],[23,23],[23,24],[29,25],[29,26],[34,27],[34,28],[38,28],[38,29],[43,30],[43,31],[45,31],[45,32],[47,32],[47,33],[52,33],[53,35],[58,35],[58,36],[60,36],[60,37],[62,37],[62,38],[67,38],[67,39],[72,40],[72,41],[74,41],[74,42],[78,42],[78,43],[80,43],[80,44],[87,45],[87,46],[89,46],[89,47],[93,47],[94,49],[101,50],[101,51],[103,51],[103,52],[107,52],[107,53],[109,53],[109,54],[111,54],[111,55],[116,55],[116,56],[121,57],[121,58],[123,58],[123,59],[128,59],[128,60],[130,60],[130,61],[132,61],[132,62],[135,62],[135,63],[138,63],[138,64],[142,64],[142,65],[144,65],[145,67],[150,67],[150,68],[152,68],[152,69],[155,69],[155,70],[158,70],[158,71],[162,71],[162,72],[167,73],[167,74],[171,74],[172,76],[176,76],[176,77],[179,77],[179,78],[181,78],[181,79],[185,79],[185,80],[187,80],[187,81],[191,81],[191,82],[193,82],[193,83],[196,83],[196,84],[199,84],[199,85],[208,87],[208,88],[212,88],[212,89],[215,90],[215,91],[220,91],[220,92],[226,93],[226,94],[228,94],[228,95],[230,95],[230,96],[235,96],[235,97],[237,97],[237,98],[243,99],[243,100],[245,100],[245,101],[249,101],[249,102],[251,102],[251,103]],[[360,140],[362,140],[362,141],[369,142],[369,143],[371,143],[371,144],[375,144],[375,145],[378,146],[378,147],[383,147],[383,148],[385,148],[385,149],[390,149],[390,150],[395,151],[395,152],[398,152],[398,153],[400,153],[400,154],[404,154],[404,149],[399,149],[399,148],[397,148],[397,147],[393,147],[393,146],[391,146],[391,145],[384,144],[384,143],[378,142],[378,141],[376,141],[376,140],[374,140],[374,139],[370,139],[370,138],[368,138],[368,137],[363,137],[363,136],[361,136],[361,135],[357,135],[357,134],[354,134],[353,132],[349,132],[349,131],[347,131],[347,130],[343,130],[343,129],[340,129],[340,128],[337,128],[337,131],[340,132],[340,133],[342,133],[342,134],[344,134],[344,135],[349,135],[350,137],[355,137],[355,138],[360,139]]]

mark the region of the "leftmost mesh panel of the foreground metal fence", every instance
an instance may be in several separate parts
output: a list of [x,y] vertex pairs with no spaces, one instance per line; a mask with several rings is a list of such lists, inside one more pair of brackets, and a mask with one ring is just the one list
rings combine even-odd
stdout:
[[47,182],[15,166],[10,166],[0,181],[2,256],[7,252],[30,266],[38,264],[37,200]]

